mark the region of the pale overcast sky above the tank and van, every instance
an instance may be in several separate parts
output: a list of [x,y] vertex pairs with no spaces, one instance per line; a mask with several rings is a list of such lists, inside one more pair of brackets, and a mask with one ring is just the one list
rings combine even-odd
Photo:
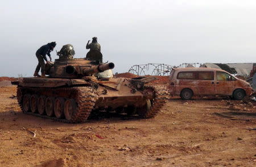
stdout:
[[0,76],[32,76],[36,50],[51,41],[85,57],[93,36],[118,73],[134,64],[256,62],[256,1],[9,0],[0,21]]

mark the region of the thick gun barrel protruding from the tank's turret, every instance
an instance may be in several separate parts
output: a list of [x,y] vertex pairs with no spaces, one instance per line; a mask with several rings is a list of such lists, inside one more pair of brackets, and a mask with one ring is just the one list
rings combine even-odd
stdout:
[[84,68],[82,70],[82,75],[88,76],[93,73],[101,73],[101,72],[104,72],[105,70],[113,69],[114,66],[115,65],[113,62],[109,62],[108,64],[100,64],[100,65],[92,66],[90,68]]

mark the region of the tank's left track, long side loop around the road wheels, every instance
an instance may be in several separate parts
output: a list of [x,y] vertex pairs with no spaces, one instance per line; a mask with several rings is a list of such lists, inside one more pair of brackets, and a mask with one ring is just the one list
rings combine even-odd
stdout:
[[23,105],[22,105],[24,94],[26,94],[26,92],[36,93],[36,92],[42,91],[40,89],[41,88],[39,87],[20,87],[20,86],[17,87],[18,103],[21,110],[24,112],[24,114],[37,116],[39,118],[44,118],[44,119],[51,119],[53,121],[62,122],[62,123],[80,123],[80,122],[85,122],[88,119],[90,112],[93,110],[95,102],[97,101],[97,95],[94,94],[92,87],[89,87],[89,86],[88,87],[46,88],[45,91],[47,92],[62,91],[62,92],[65,92],[66,94],[73,95],[73,98],[77,103],[77,110],[72,115],[72,120],[59,119],[53,116],[40,115],[37,113],[24,111]]

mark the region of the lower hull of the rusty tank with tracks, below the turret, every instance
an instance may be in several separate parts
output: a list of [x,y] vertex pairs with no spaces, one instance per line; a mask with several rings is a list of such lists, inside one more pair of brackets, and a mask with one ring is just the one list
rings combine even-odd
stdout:
[[85,122],[92,112],[100,111],[152,118],[168,93],[161,86],[140,88],[127,78],[34,77],[19,81],[17,97],[24,113],[65,123]]

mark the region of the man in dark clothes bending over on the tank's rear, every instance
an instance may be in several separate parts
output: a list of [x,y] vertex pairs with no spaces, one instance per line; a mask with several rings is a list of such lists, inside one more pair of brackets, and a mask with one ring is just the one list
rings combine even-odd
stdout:
[[[34,73],[35,77],[46,77],[46,72],[45,72],[46,64],[44,63],[44,60],[46,62],[48,62],[46,55],[49,56],[50,61],[52,60],[50,52],[53,51],[53,49],[55,47],[56,47],[56,42],[54,41],[54,42],[48,43],[46,45],[43,45],[42,47],[40,47],[38,49],[38,51],[36,51],[36,57],[38,58],[38,66],[36,66],[36,70],[35,70],[35,73]],[[41,68],[41,75],[42,76],[40,76],[38,74],[40,68]]]

